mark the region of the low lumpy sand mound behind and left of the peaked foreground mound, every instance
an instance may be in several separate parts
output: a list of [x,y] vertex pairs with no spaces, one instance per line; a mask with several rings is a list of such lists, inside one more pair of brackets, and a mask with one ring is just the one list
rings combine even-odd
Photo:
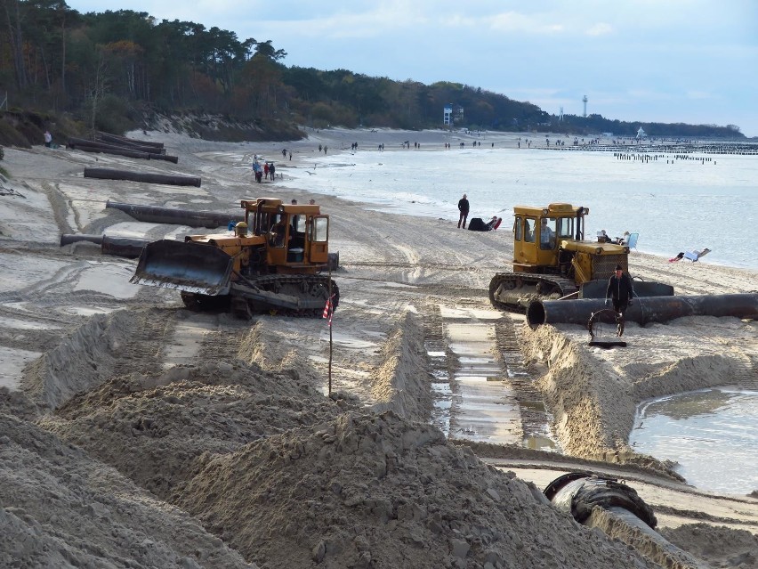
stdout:
[[271,433],[334,419],[337,411],[335,402],[281,375],[207,363],[114,378],[39,424],[166,497],[204,452],[233,451]]

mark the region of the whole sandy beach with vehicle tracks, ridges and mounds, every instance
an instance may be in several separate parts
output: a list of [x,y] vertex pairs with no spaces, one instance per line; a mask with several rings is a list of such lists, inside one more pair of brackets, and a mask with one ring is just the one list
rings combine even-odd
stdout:
[[[303,141],[245,144],[129,135],[164,142],[178,164],[5,149],[12,177],[2,185],[13,192],[0,196],[0,565],[758,567],[758,488],[698,491],[627,443],[643,400],[758,390],[758,323],[630,323],[630,349],[593,348],[579,326],[530,329],[491,307],[489,280],[510,268],[510,231],[464,232],[281,189],[313,166],[319,144],[398,151],[410,141],[432,151],[450,140],[440,132],[309,130]],[[486,143],[515,140],[488,134]],[[292,159],[278,161],[282,148]],[[254,155],[277,160],[281,179],[254,183]],[[202,185],[85,178],[93,166],[200,176]],[[235,215],[239,199],[257,196],[316,199],[330,215],[341,294],[331,352],[321,319],[192,313],[175,291],[130,284],[135,260],[93,243],[60,247],[63,233],[198,232],[135,222],[108,200]],[[758,271],[636,251],[629,265],[680,295],[758,288]],[[493,330],[495,362],[504,357],[496,347],[517,346],[562,454],[507,444],[523,435],[518,420],[504,444],[466,436],[455,416],[448,437],[432,424],[427,353],[442,345],[460,365],[446,344],[451,322]],[[519,387],[505,387],[518,399]],[[542,489],[577,469],[633,486],[678,549],[602,521],[591,530],[553,508]]]

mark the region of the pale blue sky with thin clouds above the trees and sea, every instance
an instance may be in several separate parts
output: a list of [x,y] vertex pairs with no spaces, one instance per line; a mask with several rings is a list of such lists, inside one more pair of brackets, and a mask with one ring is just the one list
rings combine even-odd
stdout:
[[[67,0],[271,40],[286,65],[758,136],[756,0]],[[441,111],[440,111],[441,112]],[[618,133],[621,134],[621,133]]]

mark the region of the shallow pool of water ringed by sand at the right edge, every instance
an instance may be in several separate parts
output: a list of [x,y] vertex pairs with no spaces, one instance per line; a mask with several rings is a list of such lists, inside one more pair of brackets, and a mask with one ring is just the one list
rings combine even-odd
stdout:
[[676,461],[707,492],[758,490],[758,392],[710,389],[642,403],[629,443]]

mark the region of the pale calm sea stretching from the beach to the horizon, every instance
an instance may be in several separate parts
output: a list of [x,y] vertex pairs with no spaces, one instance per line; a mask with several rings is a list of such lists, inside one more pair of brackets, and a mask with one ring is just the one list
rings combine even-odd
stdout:
[[[384,211],[457,221],[466,193],[472,217],[503,217],[516,205],[589,207],[585,236],[640,233],[640,251],[675,256],[711,249],[708,263],[758,268],[758,156],[477,148],[358,150],[319,156],[288,171],[294,187],[362,201]],[[509,142],[513,145],[514,142]]]

